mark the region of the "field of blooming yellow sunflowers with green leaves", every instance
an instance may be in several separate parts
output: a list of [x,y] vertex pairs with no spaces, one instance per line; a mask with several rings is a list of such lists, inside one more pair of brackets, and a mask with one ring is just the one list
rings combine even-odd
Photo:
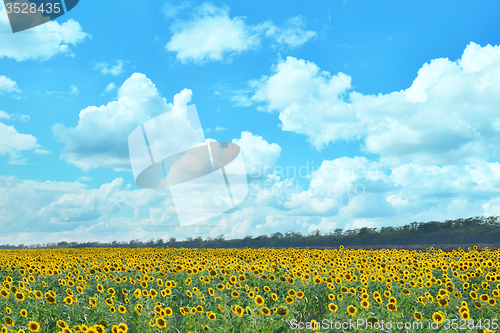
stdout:
[[496,332],[499,255],[2,250],[0,332]]

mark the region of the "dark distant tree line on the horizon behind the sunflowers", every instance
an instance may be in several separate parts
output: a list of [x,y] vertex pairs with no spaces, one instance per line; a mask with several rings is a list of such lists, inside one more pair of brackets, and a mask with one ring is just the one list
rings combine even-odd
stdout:
[[39,248],[139,248],[139,247],[174,247],[174,248],[260,248],[260,247],[338,247],[344,246],[390,246],[390,245],[439,245],[500,243],[500,216],[476,216],[467,219],[446,220],[444,222],[412,222],[404,226],[381,228],[357,228],[351,230],[335,229],[324,233],[321,230],[303,235],[300,232],[276,232],[258,237],[246,236],[241,239],[225,239],[224,235],[215,238],[188,237],[177,240],[139,239],[129,242],[58,242],[32,245],[0,245],[0,249],[39,249]]

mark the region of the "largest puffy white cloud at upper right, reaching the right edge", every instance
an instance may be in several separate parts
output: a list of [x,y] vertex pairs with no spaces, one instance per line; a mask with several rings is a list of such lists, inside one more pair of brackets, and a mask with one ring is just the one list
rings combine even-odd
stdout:
[[271,76],[250,81],[251,96],[234,100],[279,112],[284,131],[303,134],[316,149],[362,140],[388,165],[444,165],[500,153],[500,46],[470,43],[458,61],[424,64],[412,86],[389,94],[351,92],[351,77],[287,57]]

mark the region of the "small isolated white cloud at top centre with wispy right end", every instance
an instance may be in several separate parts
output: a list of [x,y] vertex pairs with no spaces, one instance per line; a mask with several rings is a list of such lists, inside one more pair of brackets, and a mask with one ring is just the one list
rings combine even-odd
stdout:
[[[188,3],[174,6],[167,3],[163,12],[167,17],[178,16],[179,10],[189,7]],[[298,47],[316,35],[304,30],[301,16],[287,20],[283,27],[267,21],[255,26],[247,25],[244,17],[229,17],[229,7],[216,7],[203,3],[192,9],[190,19],[177,18],[170,30],[172,38],[166,49],[177,53],[181,63],[203,64],[207,61],[231,62],[232,57],[260,47],[261,35],[273,38],[279,44]]]

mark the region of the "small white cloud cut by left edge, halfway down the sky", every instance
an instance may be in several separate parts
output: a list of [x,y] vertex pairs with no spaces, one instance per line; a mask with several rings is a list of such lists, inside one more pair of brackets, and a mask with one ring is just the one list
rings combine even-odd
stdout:
[[[0,111],[0,118],[5,112]],[[7,115],[8,116],[8,115]],[[9,118],[7,118],[9,119]],[[31,134],[21,134],[14,126],[0,123],[0,156],[8,155],[9,164],[26,164],[27,158],[22,156],[23,151],[33,151],[35,154],[47,154],[47,150],[40,149],[36,138]]]

